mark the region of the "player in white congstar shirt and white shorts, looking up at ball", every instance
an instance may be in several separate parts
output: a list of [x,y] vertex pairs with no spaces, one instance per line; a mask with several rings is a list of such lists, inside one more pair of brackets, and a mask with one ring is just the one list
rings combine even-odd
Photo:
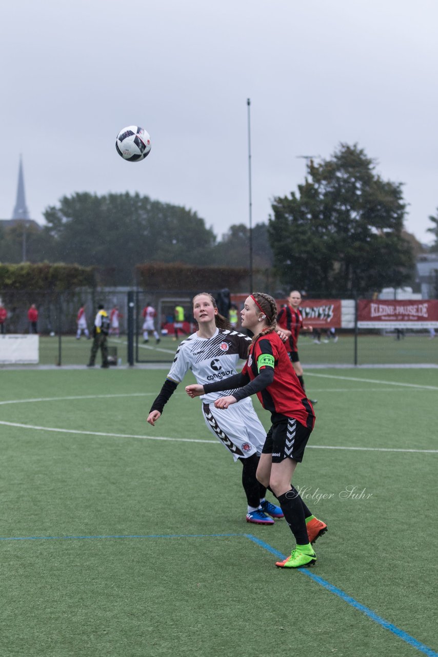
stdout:
[[[175,353],[164,386],[148,415],[147,421],[152,426],[162,415],[165,403],[189,369],[202,385],[236,374],[239,359],[247,357],[251,338],[233,330],[227,319],[219,315],[211,294],[202,292],[194,297],[193,315],[198,322],[198,331],[183,340]],[[230,451],[234,461],[242,463],[242,486],[248,502],[247,522],[272,525],[273,518],[283,517],[282,510],[265,499],[266,488],[255,477],[265,443],[265,429],[253,409],[250,397],[224,410],[214,405],[215,399],[220,396],[224,396],[224,393],[201,397],[204,420],[209,430]]]

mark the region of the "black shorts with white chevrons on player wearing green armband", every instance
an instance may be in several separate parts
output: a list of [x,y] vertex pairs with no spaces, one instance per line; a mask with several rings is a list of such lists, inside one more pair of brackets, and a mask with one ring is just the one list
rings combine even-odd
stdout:
[[262,454],[272,454],[273,463],[281,463],[284,459],[301,463],[311,431],[293,417],[282,415],[269,429]]

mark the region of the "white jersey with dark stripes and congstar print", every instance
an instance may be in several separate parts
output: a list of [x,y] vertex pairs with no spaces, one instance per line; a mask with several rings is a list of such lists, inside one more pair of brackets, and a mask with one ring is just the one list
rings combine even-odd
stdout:
[[[199,338],[192,333],[179,345],[167,378],[181,383],[190,369],[196,381],[204,385],[237,374],[237,363],[239,359],[246,359],[250,344],[251,338],[236,330],[217,328],[211,338]],[[210,392],[201,399],[210,404],[231,393],[232,390]]]

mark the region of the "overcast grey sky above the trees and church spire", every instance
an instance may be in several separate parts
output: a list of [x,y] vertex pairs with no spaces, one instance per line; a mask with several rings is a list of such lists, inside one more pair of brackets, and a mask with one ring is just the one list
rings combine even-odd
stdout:
[[[405,183],[423,242],[438,206],[437,0],[14,0],[1,11],[0,217],[20,153],[34,219],[89,191],[147,194],[220,237],[296,190],[299,155],[358,143]],[[150,133],[123,161],[118,131]]]

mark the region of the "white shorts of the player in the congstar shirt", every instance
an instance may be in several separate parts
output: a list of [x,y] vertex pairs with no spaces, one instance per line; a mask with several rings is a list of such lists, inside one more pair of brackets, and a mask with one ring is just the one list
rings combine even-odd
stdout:
[[214,403],[203,403],[202,415],[211,433],[232,453],[234,461],[261,454],[266,431],[249,397],[227,409],[217,409]]

